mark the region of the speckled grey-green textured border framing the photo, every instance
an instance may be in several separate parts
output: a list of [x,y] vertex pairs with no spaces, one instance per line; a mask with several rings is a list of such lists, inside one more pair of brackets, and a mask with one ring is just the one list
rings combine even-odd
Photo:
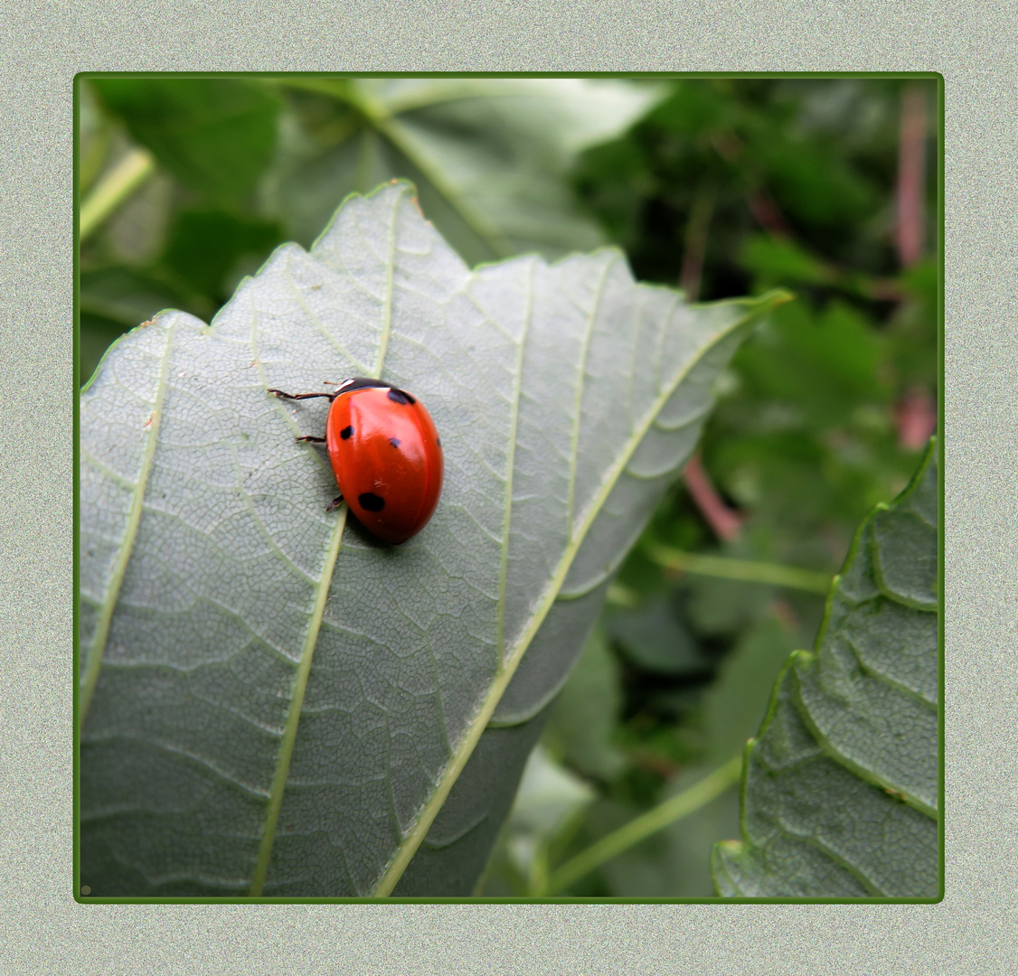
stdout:
[[[7,11],[13,7],[8,6]],[[0,438],[7,466],[0,544],[5,694],[0,864],[10,972],[784,974],[1009,972],[1016,891],[1008,737],[1013,694],[1014,555],[1010,438],[1018,363],[1006,323],[1013,291],[1013,10],[915,3],[684,5],[111,2],[5,14],[0,213]],[[793,15],[794,14],[794,15]],[[825,15],[830,17],[825,20]],[[228,30],[230,18],[241,24]],[[218,19],[217,19],[218,18]],[[312,18],[308,22],[307,18]],[[786,19],[787,18],[787,19]],[[913,26],[921,20],[922,27]],[[377,24],[373,33],[366,24]],[[791,24],[792,26],[789,26]],[[140,28],[140,30],[139,30]],[[281,45],[279,39],[288,40]],[[229,43],[223,43],[228,39]],[[308,39],[308,40],[301,40]],[[285,52],[277,56],[277,51]],[[475,52],[489,52],[487,58]],[[288,60],[281,60],[286,58]],[[69,91],[79,70],[530,70],[796,68],[937,70],[946,78],[944,495],[951,585],[946,712],[947,897],[898,906],[300,906],[189,909],[75,905],[70,856],[72,566],[68,430],[71,267]],[[20,269],[29,268],[25,274]],[[1012,299],[1013,300],[1013,299]],[[45,378],[45,379],[41,379]],[[61,382],[62,381],[62,382]],[[942,408],[943,409],[943,408]],[[944,416],[944,414],[942,414]],[[1009,589],[1010,587],[1010,589]],[[1007,686],[1004,685],[1007,682]],[[817,937],[823,933],[823,937]],[[187,962],[184,964],[184,959]],[[115,964],[113,961],[116,960]],[[876,961],[880,961],[879,963]]]

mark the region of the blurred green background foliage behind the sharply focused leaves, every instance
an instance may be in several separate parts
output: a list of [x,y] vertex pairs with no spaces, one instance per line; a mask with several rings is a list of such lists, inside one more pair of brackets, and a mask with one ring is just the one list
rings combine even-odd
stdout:
[[[82,383],[124,331],[164,307],[211,319],[276,245],[309,245],[346,193],[401,176],[471,264],[612,242],[638,279],[701,300],[796,293],[719,384],[700,449],[714,501],[676,483],[647,538],[833,575],[925,445],[939,375],[932,81],[78,84],[79,198],[138,146],[157,163],[81,242]],[[926,96],[926,167],[911,188],[899,175],[909,85]],[[907,267],[896,246],[903,192],[926,215]],[[719,534],[712,506],[737,530]],[[637,547],[553,706],[478,893],[534,894],[556,864],[737,753],[823,609],[812,592],[677,574]],[[561,894],[712,897],[711,848],[737,831],[732,788]]]

